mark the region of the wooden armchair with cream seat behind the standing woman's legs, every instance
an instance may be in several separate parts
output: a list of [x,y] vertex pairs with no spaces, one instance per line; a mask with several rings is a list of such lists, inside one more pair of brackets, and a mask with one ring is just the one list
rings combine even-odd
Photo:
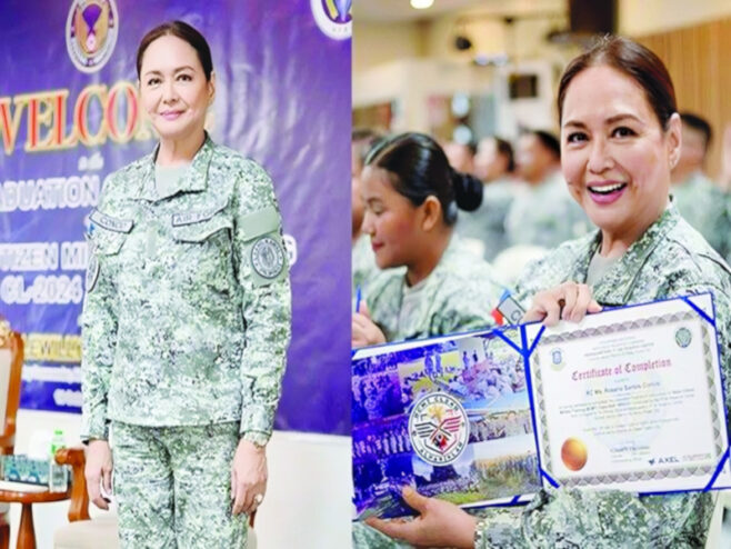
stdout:
[[[59,528],[53,533],[54,549],[117,549],[119,545],[119,527],[117,515],[109,513],[101,517],[89,516],[89,495],[87,479],[83,475],[86,458],[82,447],[61,448],[56,452],[57,463],[71,466],[71,505],[69,506],[69,525]],[[256,535],[253,532],[253,512],[249,517],[248,549],[256,549]]]

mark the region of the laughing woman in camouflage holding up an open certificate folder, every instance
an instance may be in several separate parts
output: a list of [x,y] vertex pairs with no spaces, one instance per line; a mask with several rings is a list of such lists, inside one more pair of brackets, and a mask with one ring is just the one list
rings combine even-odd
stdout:
[[[524,320],[578,322],[602,306],[711,291],[729,399],[731,271],[669,200],[681,123],[667,69],[635,42],[603,39],[569,64],[558,98],[563,174],[599,231],[529,266],[515,292]],[[714,500],[559,488],[474,517],[411,489],[404,498],[419,518],[369,523],[418,546],[478,549],[702,548]],[[353,537],[356,547],[398,543],[361,525]]]

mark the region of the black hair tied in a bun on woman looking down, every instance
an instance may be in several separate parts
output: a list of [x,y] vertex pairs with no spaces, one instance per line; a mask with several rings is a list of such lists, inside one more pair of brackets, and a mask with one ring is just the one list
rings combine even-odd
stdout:
[[388,171],[391,184],[414,206],[437,197],[444,222],[457,221],[457,209],[473,211],[482,203],[482,183],[449,164],[442,148],[423,133],[401,133],[375,144],[366,158],[367,166]]

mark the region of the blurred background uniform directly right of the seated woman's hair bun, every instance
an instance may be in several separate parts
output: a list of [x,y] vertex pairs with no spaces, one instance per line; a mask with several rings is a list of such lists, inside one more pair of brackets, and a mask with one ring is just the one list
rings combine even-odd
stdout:
[[484,259],[492,261],[508,248],[505,218],[523,183],[503,179],[483,188],[482,203],[475,211],[460,212],[457,232],[464,238],[474,238],[484,246]]

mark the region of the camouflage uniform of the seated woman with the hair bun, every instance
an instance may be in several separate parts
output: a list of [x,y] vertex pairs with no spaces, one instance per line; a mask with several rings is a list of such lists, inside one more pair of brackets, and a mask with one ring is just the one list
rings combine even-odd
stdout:
[[371,318],[387,341],[429,338],[494,325],[491,307],[502,292],[490,266],[467,250],[457,234],[434,270],[417,285],[418,306],[403,310],[403,271],[383,271],[364,296]]

